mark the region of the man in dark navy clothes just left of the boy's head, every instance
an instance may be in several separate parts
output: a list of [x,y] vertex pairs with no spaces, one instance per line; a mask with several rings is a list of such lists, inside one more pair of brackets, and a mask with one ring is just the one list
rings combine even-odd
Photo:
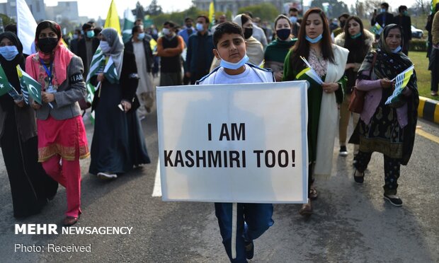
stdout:
[[190,78],[192,84],[207,75],[210,64],[212,64],[212,49],[214,49],[214,46],[212,34],[207,30],[208,26],[209,18],[207,16],[198,16],[196,25],[198,32],[189,37],[188,54],[186,55],[188,72],[186,76]]

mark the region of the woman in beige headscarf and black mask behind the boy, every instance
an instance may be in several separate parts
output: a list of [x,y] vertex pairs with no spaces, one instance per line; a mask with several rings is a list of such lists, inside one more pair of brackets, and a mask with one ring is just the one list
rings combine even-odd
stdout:
[[[247,15],[241,14],[233,18],[233,22],[241,26],[244,32],[244,38],[246,40],[246,53],[249,56],[249,63],[260,66],[263,62],[263,46],[261,42],[252,37],[253,34],[253,23],[251,18]],[[210,71],[220,66],[220,60],[214,57],[212,65],[210,66]]]

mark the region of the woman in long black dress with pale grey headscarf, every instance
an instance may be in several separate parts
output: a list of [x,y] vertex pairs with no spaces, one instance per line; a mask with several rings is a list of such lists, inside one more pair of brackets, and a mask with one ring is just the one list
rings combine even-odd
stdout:
[[87,76],[98,88],[92,104],[96,119],[89,172],[101,179],[114,179],[134,165],[150,161],[136,113],[139,102],[135,55],[124,52],[122,39],[114,28],[105,28],[99,37],[101,44]]

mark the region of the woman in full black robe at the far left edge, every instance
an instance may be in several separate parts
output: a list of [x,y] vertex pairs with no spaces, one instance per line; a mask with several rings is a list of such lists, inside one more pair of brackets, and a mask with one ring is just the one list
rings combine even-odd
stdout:
[[[23,46],[11,32],[0,34],[1,67],[17,93],[0,97],[0,143],[11,184],[13,216],[37,214],[57,192],[58,184],[38,163],[35,112],[25,105],[16,66],[25,68]],[[14,98],[15,100],[14,100]]]

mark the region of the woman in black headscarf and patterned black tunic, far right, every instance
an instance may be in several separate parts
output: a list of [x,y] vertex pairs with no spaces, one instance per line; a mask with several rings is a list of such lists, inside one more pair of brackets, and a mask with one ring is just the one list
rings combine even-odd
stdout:
[[[402,30],[399,25],[387,25],[381,33],[375,52],[367,54],[358,71],[357,88],[367,91],[365,105],[357,128],[360,151],[353,174],[355,182],[363,183],[365,170],[374,151],[384,155],[384,199],[394,206],[401,206],[397,197],[399,168],[409,162],[414,146],[418,116],[418,90],[416,73],[409,57],[401,52]],[[408,83],[399,81],[405,75]],[[391,81],[393,78],[397,82]],[[404,79],[404,76],[402,76]],[[406,85],[406,86],[404,86]],[[399,103],[387,105],[393,89],[401,91]]]

